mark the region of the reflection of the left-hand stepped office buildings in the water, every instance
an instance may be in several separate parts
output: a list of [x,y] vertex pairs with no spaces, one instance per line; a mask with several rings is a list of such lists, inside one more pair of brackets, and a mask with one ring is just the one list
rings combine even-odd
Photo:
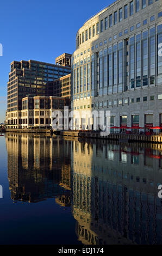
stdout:
[[57,202],[70,202],[68,141],[10,133],[6,144],[11,199],[33,203],[58,197]]

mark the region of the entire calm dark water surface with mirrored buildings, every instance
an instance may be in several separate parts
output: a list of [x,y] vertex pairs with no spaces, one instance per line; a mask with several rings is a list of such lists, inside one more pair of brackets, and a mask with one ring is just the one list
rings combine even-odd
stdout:
[[6,133],[1,244],[161,244],[162,147]]

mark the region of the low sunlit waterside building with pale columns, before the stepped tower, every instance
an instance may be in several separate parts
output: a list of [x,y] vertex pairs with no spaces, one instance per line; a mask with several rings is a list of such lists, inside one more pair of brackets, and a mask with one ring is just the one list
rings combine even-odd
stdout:
[[64,107],[70,109],[70,99],[54,96],[24,97],[22,110],[17,117],[8,118],[8,128],[24,129],[29,127],[52,127],[52,113],[61,111],[64,117]]

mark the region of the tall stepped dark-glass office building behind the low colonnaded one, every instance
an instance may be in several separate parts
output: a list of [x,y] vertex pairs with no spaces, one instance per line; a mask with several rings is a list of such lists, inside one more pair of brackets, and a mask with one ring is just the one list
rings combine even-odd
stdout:
[[[66,55],[71,56],[67,53],[63,55],[64,58],[67,58]],[[8,126],[13,123],[10,122],[13,119],[15,119],[15,124],[12,124],[13,128],[18,125],[18,115],[22,110],[23,97],[54,95],[53,81],[70,74],[69,63],[67,60],[64,66],[36,60],[21,60],[11,63],[8,82]]]

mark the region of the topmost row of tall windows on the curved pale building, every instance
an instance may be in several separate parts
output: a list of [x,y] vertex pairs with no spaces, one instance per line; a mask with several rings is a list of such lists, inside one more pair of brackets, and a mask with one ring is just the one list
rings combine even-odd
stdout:
[[[155,2],[158,0],[155,0]],[[146,0],[141,0],[141,7],[142,9],[146,8]],[[148,0],[148,5],[151,5],[153,3],[153,0]],[[123,8],[119,9],[119,15],[117,19],[117,11],[114,11],[113,14],[109,15],[109,22],[108,17],[105,17],[104,20],[101,20],[100,22],[97,22],[96,25],[93,25],[89,29],[86,29],[85,32],[82,32],[82,34],[79,34],[77,38],[77,45],[83,44],[85,41],[88,41],[88,39],[91,39],[95,35],[98,35],[99,32],[102,33],[104,30],[108,29],[108,27],[112,27],[113,24],[117,24],[117,20],[119,22],[122,21],[122,19],[127,19],[128,17],[128,8],[129,8],[129,16],[132,16],[134,14],[134,1],[129,2],[128,4],[124,5]],[[140,0],[135,0],[135,13],[138,13],[140,10]],[[160,13],[158,14],[158,17],[160,17]]]

